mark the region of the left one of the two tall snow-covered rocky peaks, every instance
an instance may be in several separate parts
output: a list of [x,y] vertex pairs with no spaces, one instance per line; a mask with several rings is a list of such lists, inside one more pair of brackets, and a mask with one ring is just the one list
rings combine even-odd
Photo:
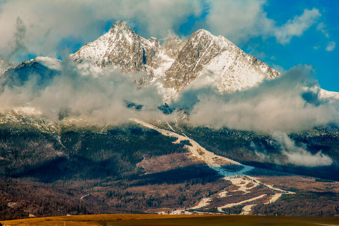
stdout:
[[133,73],[146,71],[153,77],[153,69],[161,62],[162,44],[156,38],[145,39],[122,20],[95,41],[87,43],[71,58],[78,62],[93,63],[98,67],[120,67]]

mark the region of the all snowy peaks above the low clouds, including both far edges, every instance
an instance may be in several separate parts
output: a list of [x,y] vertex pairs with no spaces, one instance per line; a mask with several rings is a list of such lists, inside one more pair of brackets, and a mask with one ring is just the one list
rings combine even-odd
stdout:
[[[199,86],[210,86],[220,92],[246,90],[280,76],[280,72],[246,54],[225,37],[199,29],[188,40],[170,36],[164,44],[157,38],[145,39],[124,21],[116,21],[109,31],[86,43],[70,58],[79,67],[98,70],[118,69],[124,73],[146,72],[138,84],[154,85],[168,100],[199,78]],[[3,84],[22,85],[28,75],[39,75],[45,84],[58,74],[61,61],[36,57],[15,65],[0,57]],[[1,73],[1,71],[0,71]],[[311,90],[320,99],[339,99],[339,93],[316,86]]]

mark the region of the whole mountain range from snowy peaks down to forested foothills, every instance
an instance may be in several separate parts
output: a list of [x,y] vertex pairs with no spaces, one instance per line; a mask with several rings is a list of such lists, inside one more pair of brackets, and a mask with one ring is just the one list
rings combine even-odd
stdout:
[[[161,43],[122,20],[62,61],[16,65],[0,56],[0,220],[122,212],[339,216],[339,93],[284,76],[207,30]],[[261,133],[195,124],[194,113],[210,110],[214,99],[198,110],[171,106],[192,87],[230,99],[233,105],[219,99],[207,111],[217,120],[254,125],[264,115],[259,124],[310,125]],[[156,107],[129,99],[142,95]],[[219,108],[226,111],[217,117]],[[294,114],[301,117],[293,121]]]

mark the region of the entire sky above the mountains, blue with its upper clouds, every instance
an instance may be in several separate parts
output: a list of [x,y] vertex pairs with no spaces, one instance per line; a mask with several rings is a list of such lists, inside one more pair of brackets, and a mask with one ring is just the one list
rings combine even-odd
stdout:
[[0,55],[60,58],[123,19],[161,41],[204,28],[277,70],[311,65],[320,86],[338,92],[338,9],[335,0],[3,0]]

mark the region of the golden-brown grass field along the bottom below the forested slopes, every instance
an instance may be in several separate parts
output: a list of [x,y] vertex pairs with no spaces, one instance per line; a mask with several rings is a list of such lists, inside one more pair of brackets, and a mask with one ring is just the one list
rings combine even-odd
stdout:
[[335,217],[285,217],[244,215],[154,215],[154,214],[101,214],[61,217],[42,217],[1,221],[6,226],[315,226],[339,225]]

